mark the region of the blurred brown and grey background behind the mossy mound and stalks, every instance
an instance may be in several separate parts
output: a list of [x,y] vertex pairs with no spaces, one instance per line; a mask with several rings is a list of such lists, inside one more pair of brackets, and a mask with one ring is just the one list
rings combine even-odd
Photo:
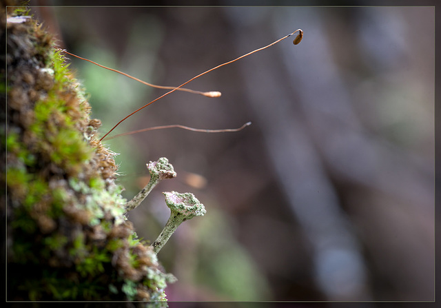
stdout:
[[[163,181],[130,212],[155,240],[169,216],[161,192],[193,192],[207,214],[183,223],[158,258],[178,282],[170,301],[434,300],[434,7],[67,7],[32,12],[81,57],[145,81],[192,81],[105,141],[120,153],[132,198],[145,163]],[[81,2],[77,3],[80,4]],[[223,3],[225,4],[225,3]],[[228,3],[229,4],[229,3]],[[69,57],[101,136],[165,90]]]

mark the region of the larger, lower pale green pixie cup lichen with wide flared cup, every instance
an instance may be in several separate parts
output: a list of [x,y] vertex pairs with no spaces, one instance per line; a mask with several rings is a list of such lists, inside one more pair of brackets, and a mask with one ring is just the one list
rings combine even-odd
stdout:
[[207,212],[202,203],[192,193],[179,194],[178,192],[163,192],[165,203],[170,207],[170,218],[158,238],[152,244],[156,254],[167,243],[170,236],[176,231],[178,225],[185,220],[192,219],[194,216],[204,216]]

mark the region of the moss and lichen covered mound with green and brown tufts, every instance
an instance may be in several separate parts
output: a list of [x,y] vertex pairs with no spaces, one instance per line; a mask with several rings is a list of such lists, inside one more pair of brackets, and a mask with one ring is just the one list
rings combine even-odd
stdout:
[[165,300],[174,277],[123,216],[114,153],[81,84],[41,25],[13,14],[1,33],[7,299]]

